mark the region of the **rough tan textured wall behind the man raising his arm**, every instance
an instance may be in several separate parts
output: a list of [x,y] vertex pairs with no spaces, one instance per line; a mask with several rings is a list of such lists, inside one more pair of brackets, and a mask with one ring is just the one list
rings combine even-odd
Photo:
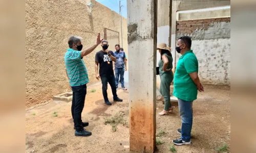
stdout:
[[[26,0],[26,107],[70,91],[64,55],[71,35],[83,37],[83,46],[89,47],[96,43],[98,32],[103,38],[103,28],[121,33],[119,14],[95,1],[91,10],[88,2]],[[123,18],[122,29],[123,48],[128,53],[126,18]],[[90,83],[96,82],[94,59],[100,49],[98,46],[83,58]]]

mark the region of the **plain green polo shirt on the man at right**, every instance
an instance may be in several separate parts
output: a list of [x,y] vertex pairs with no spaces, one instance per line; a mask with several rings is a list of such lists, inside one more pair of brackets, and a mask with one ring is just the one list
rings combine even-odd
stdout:
[[198,60],[193,50],[183,54],[177,64],[174,74],[173,95],[185,101],[197,99],[197,86],[189,73],[198,72]]

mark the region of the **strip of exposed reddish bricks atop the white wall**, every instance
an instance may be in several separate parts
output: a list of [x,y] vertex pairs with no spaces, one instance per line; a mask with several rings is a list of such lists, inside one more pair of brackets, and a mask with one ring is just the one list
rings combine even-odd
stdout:
[[176,21],[176,33],[191,34],[197,29],[207,30],[210,23],[230,22],[230,17]]

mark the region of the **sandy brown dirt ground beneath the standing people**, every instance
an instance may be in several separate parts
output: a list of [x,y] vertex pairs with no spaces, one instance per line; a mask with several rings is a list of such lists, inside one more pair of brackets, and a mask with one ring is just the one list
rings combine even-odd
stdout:
[[[177,152],[218,152],[217,149],[230,140],[230,88],[225,86],[204,86],[193,104],[194,122],[191,145],[175,146]],[[110,89],[110,88],[109,88]],[[93,92],[93,90],[96,90]],[[110,100],[111,90],[108,91]],[[129,90],[118,90],[122,103],[106,106],[103,102],[101,84],[88,87],[82,120],[88,121],[86,128],[90,137],[75,137],[71,116],[71,103],[51,103],[26,111],[26,152],[130,152],[129,127],[118,124],[116,132],[110,124],[104,124],[106,117],[123,116],[129,122]],[[172,140],[179,138],[181,127],[178,104],[174,113],[159,116],[162,101],[157,101],[157,137],[162,144],[156,152],[172,152]],[[55,112],[55,114],[54,114]],[[56,115],[57,114],[57,115]]]

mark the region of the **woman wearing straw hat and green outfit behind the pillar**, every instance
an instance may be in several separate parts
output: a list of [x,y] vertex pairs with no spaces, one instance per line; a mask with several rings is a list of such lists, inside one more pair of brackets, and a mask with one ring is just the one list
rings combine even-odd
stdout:
[[160,43],[157,47],[159,53],[161,54],[161,59],[158,62],[159,75],[161,79],[160,83],[160,93],[164,97],[164,110],[159,113],[159,115],[167,115],[172,113],[174,107],[170,104],[170,84],[173,82],[173,57],[170,54],[170,48],[166,46],[165,43]]

